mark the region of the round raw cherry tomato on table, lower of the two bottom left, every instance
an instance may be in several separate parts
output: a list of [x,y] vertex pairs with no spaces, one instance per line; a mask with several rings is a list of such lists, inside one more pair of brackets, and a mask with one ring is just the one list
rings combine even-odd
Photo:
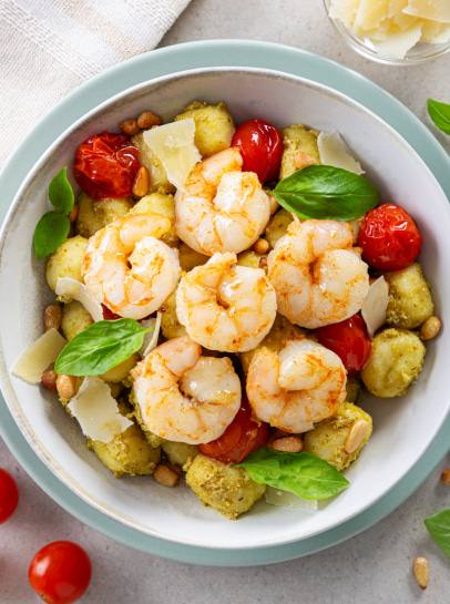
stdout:
[[71,604],[88,590],[92,567],[85,551],[71,541],[54,541],[35,554],[28,579],[49,604]]

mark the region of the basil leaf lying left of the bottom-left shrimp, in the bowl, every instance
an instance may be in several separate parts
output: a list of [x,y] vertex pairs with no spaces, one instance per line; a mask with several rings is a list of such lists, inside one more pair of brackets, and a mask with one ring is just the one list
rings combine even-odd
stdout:
[[69,376],[101,376],[136,352],[144,329],[134,319],[98,321],[78,334],[57,359],[57,373]]

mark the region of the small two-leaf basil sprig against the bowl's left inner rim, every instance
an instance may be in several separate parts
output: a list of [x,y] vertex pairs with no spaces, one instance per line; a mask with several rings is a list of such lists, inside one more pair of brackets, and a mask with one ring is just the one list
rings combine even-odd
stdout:
[[73,208],[74,197],[67,171],[63,167],[49,186],[49,199],[55,209],[45,212],[34,229],[33,244],[38,260],[58,249],[69,235],[68,215]]

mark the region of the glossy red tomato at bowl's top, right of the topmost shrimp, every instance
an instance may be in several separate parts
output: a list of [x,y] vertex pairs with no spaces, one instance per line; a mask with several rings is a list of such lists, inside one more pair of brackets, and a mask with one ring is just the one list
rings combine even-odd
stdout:
[[278,176],[283,155],[283,137],[279,130],[264,120],[249,120],[237,126],[232,146],[241,151],[244,172],[256,172],[264,184]]

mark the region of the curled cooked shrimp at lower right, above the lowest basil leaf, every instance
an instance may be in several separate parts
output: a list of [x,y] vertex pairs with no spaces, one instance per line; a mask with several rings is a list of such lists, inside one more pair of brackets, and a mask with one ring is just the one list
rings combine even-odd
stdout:
[[285,432],[311,430],[346,399],[347,373],[339,357],[313,340],[289,340],[273,352],[256,350],[248,368],[247,397],[254,413]]

